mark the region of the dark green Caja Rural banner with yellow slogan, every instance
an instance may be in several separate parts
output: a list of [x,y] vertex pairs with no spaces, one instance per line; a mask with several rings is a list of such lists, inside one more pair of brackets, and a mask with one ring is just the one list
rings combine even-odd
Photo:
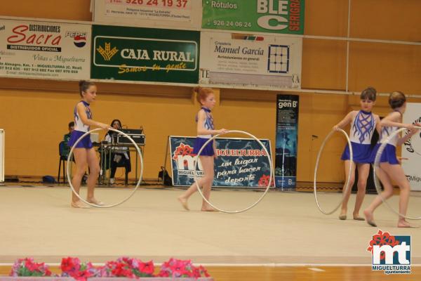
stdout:
[[91,78],[196,84],[199,38],[196,31],[93,25]]

